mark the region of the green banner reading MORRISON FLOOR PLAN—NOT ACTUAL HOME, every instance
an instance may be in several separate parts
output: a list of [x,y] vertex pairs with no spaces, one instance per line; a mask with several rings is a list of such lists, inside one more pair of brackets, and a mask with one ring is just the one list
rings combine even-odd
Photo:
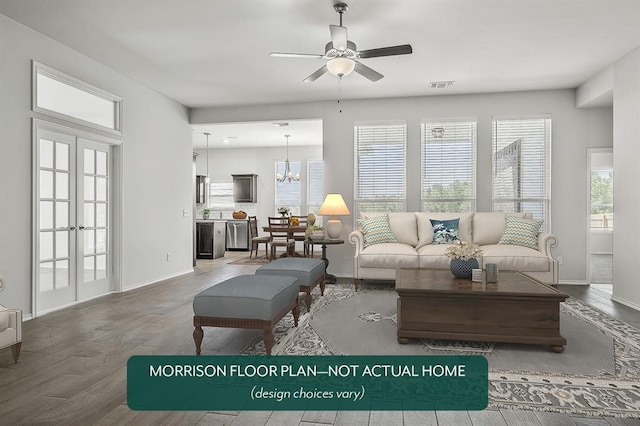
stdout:
[[482,356],[133,356],[133,410],[482,410]]

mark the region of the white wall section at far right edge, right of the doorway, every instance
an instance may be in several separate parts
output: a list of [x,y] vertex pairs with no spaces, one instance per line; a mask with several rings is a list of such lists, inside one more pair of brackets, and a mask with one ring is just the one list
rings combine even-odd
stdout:
[[640,48],[614,64],[613,300],[640,309]]

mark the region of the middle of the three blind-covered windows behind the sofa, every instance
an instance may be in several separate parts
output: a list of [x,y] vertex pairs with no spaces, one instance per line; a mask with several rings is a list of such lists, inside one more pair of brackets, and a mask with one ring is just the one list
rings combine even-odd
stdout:
[[475,121],[422,123],[422,211],[475,211],[476,128]]

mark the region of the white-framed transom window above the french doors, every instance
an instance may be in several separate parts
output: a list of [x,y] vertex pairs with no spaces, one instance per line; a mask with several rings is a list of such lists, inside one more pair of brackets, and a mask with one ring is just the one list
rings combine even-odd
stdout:
[[33,110],[94,129],[122,134],[122,99],[33,62]]

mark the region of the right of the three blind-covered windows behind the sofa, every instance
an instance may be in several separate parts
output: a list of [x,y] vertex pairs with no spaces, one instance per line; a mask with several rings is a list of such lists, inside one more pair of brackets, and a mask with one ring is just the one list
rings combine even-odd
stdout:
[[549,230],[551,117],[496,119],[493,128],[493,210],[530,212]]

